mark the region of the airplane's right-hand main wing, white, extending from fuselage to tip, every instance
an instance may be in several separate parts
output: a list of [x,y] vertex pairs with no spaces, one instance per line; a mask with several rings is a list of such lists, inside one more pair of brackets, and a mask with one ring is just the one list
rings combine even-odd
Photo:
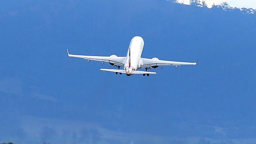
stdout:
[[141,68],[151,67],[151,66],[164,66],[164,65],[174,65],[175,67],[179,65],[197,65],[196,63],[189,63],[189,62],[179,62],[179,61],[163,61],[159,59],[147,59],[141,58]]

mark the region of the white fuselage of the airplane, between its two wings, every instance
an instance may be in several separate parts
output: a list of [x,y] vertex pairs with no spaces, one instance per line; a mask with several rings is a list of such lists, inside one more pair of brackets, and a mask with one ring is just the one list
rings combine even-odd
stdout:
[[129,44],[128,52],[124,63],[124,69],[127,76],[130,76],[133,70],[141,67],[141,54],[144,47],[144,40],[142,37],[135,36]]

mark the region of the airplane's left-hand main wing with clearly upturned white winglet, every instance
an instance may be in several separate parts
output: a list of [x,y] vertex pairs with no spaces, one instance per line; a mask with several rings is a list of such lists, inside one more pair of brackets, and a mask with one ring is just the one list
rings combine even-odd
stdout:
[[108,62],[108,63],[113,63],[114,65],[118,66],[124,66],[124,60],[126,57],[117,57],[116,55],[105,57],[105,56],[90,56],[90,55],[72,55],[69,54],[69,50],[67,50],[67,53],[69,57],[78,57],[78,58],[83,58],[87,59],[89,61],[102,61],[102,62]]

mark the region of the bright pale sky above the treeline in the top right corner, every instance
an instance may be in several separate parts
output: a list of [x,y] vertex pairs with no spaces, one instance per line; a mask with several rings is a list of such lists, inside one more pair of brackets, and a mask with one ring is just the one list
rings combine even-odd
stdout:
[[[189,0],[179,0],[178,2],[183,2],[184,4],[189,4]],[[201,0],[202,2],[202,0]],[[238,8],[253,8],[256,9],[255,0],[205,0],[207,6],[210,8],[213,4],[221,4],[227,2],[232,7]]]

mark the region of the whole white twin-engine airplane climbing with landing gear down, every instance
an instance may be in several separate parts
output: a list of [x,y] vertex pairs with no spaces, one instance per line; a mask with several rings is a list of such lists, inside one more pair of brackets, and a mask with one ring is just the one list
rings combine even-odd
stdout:
[[[88,55],[72,55],[69,54],[69,50],[67,50],[67,53],[69,57],[79,57],[83,59],[87,59],[89,61],[102,61],[102,64],[104,62],[108,62],[112,66],[117,66],[118,69],[100,69],[108,72],[115,72],[115,74],[126,74],[127,76],[131,76],[132,74],[143,74],[143,76],[149,74],[156,74],[156,72],[148,72],[147,70],[152,68],[157,68],[158,66],[165,65],[173,65],[175,68],[180,65],[197,65],[196,63],[188,63],[188,62],[178,62],[178,61],[163,61],[159,60],[158,58],[154,57],[152,59],[142,58],[141,53],[144,47],[144,41],[142,37],[136,36],[133,37],[130,41],[128,52],[126,54],[126,57],[118,57],[117,55],[111,55],[111,56],[88,56]],[[120,67],[123,66],[124,69],[121,70]],[[139,71],[137,69],[145,68],[145,71]]]

